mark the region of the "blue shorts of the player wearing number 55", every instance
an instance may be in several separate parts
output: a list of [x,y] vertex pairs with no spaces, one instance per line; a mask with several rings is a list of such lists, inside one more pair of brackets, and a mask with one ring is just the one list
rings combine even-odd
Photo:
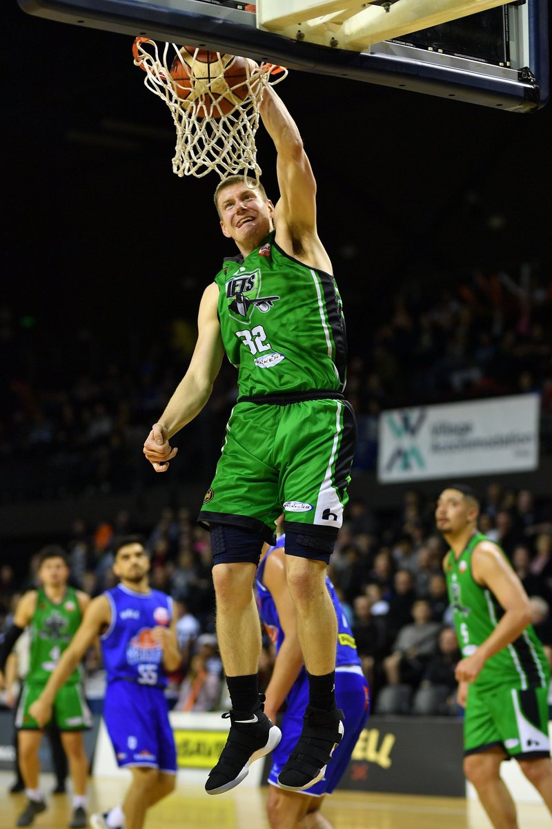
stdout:
[[103,719],[120,768],[147,766],[176,773],[175,737],[161,688],[125,680],[111,682]]

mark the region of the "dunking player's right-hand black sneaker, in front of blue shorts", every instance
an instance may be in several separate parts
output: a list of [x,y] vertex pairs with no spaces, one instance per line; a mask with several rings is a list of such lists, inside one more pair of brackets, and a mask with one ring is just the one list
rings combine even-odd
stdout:
[[278,785],[288,792],[302,792],[324,777],[336,745],[343,737],[343,711],[321,711],[307,705],[303,730],[295,749],[278,775]]

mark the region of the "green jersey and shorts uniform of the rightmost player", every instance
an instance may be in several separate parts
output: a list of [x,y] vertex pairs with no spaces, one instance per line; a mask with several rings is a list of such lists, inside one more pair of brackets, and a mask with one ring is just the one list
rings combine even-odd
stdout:
[[[473,579],[472,555],[480,541],[490,540],[476,533],[462,555],[455,558],[454,550],[449,550],[445,559],[449,601],[463,657],[477,651],[505,613],[491,590]],[[476,681],[469,684],[464,753],[499,745],[509,757],[547,757],[549,685],[545,652],[528,625],[515,642],[487,659]]]

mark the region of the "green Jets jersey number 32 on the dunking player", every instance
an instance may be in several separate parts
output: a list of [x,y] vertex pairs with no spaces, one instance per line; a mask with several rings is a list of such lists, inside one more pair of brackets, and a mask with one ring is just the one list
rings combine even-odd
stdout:
[[345,385],[345,322],[333,276],[286,255],[274,233],[215,277],[218,318],[240,395]]

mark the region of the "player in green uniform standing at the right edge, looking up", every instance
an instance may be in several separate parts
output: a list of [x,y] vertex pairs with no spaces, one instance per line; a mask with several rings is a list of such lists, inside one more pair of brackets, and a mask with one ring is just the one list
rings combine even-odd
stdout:
[[477,530],[478,497],[451,484],[439,496],[437,529],[450,545],[444,572],[463,659],[456,667],[464,718],[464,773],[496,829],[516,829],[500,777],[515,758],[552,812],[547,696],[550,671],[530,625],[529,599],[501,548]]

